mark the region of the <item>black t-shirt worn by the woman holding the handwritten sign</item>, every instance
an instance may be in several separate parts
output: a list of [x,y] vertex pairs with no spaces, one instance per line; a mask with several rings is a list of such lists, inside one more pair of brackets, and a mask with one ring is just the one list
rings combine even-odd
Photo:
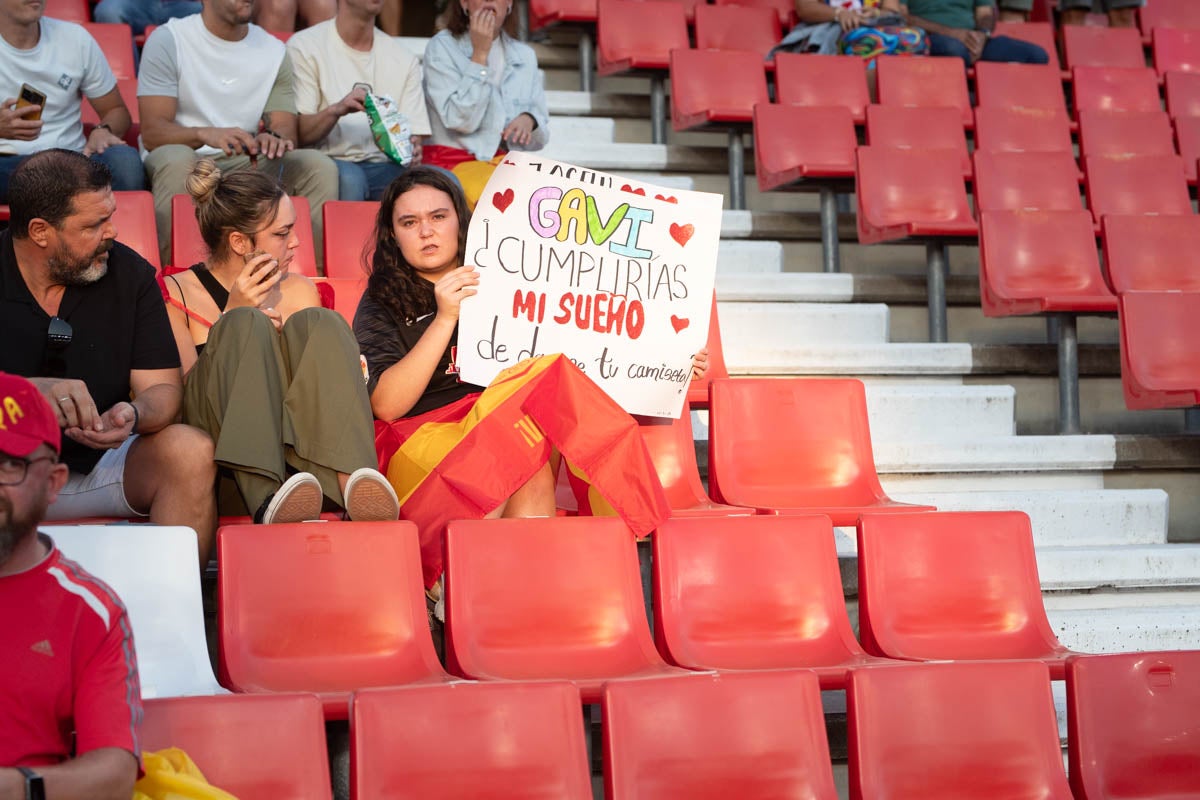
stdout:
[[[383,305],[376,302],[371,295],[362,295],[359,301],[359,309],[354,313],[354,337],[359,341],[359,351],[367,360],[367,393],[374,392],[379,383],[379,375],[391,365],[396,363],[408,351],[416,347],[416,342],[430,327],[433,314],[420,317],[412,325],[397,319]],[[458,380],[458,367],[455,365],[456,350],[458,349],[458,326],[454,329],[450,344],[442,354],[433,377],[421,392],[420,399],[408,410],[404,416],[418,416],[436,408],[449,405],[462,399],[472,392],[482,391],[481,386],[464,384]]]

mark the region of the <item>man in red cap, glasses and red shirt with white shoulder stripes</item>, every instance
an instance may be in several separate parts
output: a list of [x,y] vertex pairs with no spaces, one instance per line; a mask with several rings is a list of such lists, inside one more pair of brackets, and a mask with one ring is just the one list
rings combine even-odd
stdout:
[[37,389],[0,373],[0,800],[128,800],[142,722],[130,619],[37,531],[67,480],[60,446]]

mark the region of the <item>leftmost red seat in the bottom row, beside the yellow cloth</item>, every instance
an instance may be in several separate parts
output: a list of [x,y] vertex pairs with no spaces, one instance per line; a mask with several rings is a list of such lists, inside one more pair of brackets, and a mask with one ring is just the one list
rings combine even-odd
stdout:
[[332,798],[325,720],[312,694],[146,700],[142,748],[167,747],[181,748],[209,783],[238,798]]

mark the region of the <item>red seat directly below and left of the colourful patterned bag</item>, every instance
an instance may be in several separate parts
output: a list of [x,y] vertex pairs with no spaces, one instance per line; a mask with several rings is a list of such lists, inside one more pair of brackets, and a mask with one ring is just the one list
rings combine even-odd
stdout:
[[780,53],[775,56],[775,95],[781,106],[842,106],[856,125],[866,122],[871,104],[866,66],[857,55]]

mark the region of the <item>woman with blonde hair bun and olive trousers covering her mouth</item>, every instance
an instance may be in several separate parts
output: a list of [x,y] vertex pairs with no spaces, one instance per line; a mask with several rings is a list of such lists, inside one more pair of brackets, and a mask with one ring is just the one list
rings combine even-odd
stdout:
[[209,158],[186,187],[209,257],[166,278],[184,420],[212,437],[256,522],[316,519],[325,500],[350,519],[396,519],[354,335],[289,271],[292,199],[263,173],[222,174]]

